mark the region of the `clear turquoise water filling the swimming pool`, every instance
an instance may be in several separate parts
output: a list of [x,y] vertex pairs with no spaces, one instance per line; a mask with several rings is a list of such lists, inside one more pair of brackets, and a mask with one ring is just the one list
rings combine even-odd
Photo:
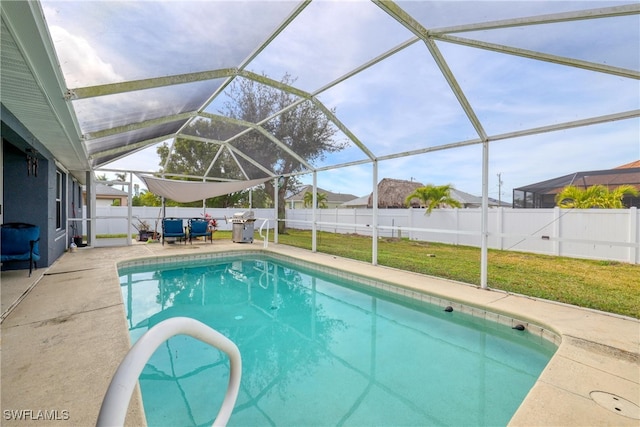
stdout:
[[[189,316],[243,359],[231,426],[506,425],[556,347],[527,331],[258,255],[120,269],[132,342]],[[150,426],[210,425],[226,356],[191,337],[141,377]]]

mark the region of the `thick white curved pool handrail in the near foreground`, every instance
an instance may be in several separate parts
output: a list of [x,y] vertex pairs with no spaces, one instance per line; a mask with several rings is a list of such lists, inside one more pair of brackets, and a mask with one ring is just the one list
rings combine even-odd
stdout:
[[97,426],[124,425],[133,389],[147,361],[163,342],[179,334],[190,335],[222,350],[229,356],[231,372],[229,373],[227,393],[222,401],[218,416],[213,421],[214,426],[225,426],[227,424],[240,389],[240,378],[242,376],[240,350],[238,350],[233,341],[204,323],[188,317],[173,317],[163,320],[149,329],[131,347],[120,366],[118,366],[111,384],[109,384],[107,393],[102,401],[96,423]]

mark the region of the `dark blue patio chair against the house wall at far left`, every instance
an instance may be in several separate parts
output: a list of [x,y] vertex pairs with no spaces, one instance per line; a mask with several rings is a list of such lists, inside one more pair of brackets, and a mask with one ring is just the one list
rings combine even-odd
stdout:
[[29,261],[29,277],[40,259],[40,227],[22,222],[2,224],[2,262]]

